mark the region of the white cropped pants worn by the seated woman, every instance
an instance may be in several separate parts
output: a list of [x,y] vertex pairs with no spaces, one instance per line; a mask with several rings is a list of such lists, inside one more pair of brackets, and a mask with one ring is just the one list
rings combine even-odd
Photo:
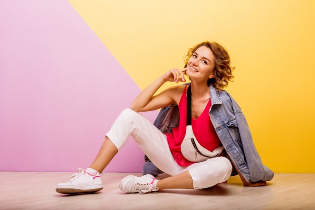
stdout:
[[126,144],[130,135],[143,153],[161,171],[174,176],[189,171],[194,189],[202,189],[224,182],[232,171],[227,158],[216,157],[187,167],[179,166],[170,151],[167,137],[141,114],[124,109],[115,120],[106,136],[118,151]]

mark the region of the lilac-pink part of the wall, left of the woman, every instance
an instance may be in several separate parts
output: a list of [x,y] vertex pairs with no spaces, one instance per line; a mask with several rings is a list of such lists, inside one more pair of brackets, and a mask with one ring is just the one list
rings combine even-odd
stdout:
[[[66,1],[0,2],[1,171],[88,167],[139,92]],[[143,115],[152,122],[157,111]],[[143,163],[130,138],[105,171]]]

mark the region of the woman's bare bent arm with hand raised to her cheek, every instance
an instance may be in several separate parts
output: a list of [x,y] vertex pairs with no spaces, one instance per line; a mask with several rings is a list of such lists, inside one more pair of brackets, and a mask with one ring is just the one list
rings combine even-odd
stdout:
[[175,92],[177,87],[171,87],[153,96],[154,93],[166,82],[176,82],[180,80],[185,82],[184,72],[186,68],[171,68],[170,71],[157,78],[152,84],[146,87],[132,102],[130,109],[136,112],[145,112],[160,109],[162,107],[175,103]]

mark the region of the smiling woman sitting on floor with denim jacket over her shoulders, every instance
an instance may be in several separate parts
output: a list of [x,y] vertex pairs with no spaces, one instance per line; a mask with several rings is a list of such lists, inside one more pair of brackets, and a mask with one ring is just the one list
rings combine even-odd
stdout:
[[[233,166],[245,185],[266,185],[273,172],[261,163],[241,108],[222,90],[233,78],[232,69],[227,51],[215,42],[189,49],[185,67],[171,68],[146,87],[115,120],[91,166],[79,168],[56,191],[70,194],[103,189],[100,173],[130,135],[154,167],[171,177],[127,176],[119,185],[124,192],[207,188],[235,175]],[[166,82],[186,82],[184,74],[190,84],[154,95]],[[155,126],[138,113],[160,108]]]

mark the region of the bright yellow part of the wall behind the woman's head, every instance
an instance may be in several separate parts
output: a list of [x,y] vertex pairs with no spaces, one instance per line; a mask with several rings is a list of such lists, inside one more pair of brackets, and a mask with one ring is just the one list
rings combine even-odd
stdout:
[[225,46],[236,67],[226,90],[241,106],[263,163],[278,173],[315,172],[315,1],[69,3],[142,90],[182,67],[193,45]]

